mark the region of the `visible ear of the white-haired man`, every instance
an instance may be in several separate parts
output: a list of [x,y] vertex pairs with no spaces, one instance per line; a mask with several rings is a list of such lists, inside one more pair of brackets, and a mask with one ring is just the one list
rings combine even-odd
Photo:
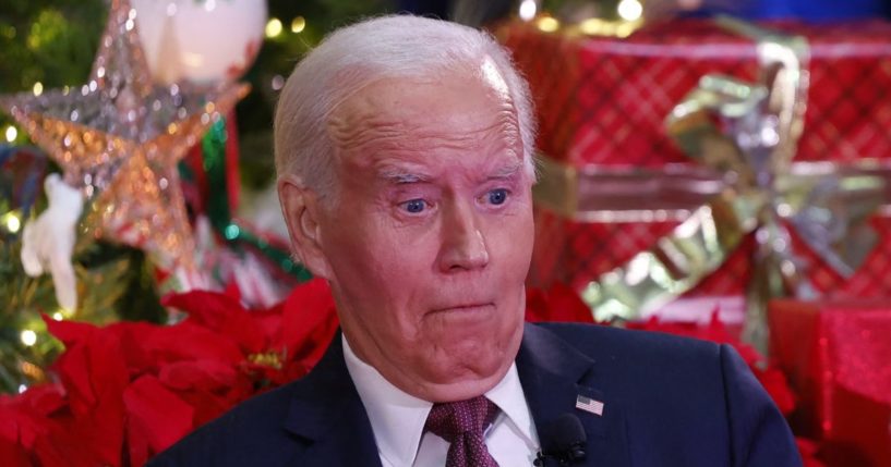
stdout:
[[291,237],[291,250],[313,275],[330,280],[330,265],[321,244],[322,207],[317,195],[291,174],[279,177],[278,200]]

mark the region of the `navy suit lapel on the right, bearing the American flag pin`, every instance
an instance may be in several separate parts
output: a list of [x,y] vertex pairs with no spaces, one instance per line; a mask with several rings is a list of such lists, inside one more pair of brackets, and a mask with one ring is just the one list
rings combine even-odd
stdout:
[[[582,465],[629,466],[625,420],[618,402],[595,388],[595,361],[553,332],[526,324],[517,355],[517,372],[539,439],[562,414],[576,415],[587,435]],[[603,414],[576,408],[579,395],[603,403]]]

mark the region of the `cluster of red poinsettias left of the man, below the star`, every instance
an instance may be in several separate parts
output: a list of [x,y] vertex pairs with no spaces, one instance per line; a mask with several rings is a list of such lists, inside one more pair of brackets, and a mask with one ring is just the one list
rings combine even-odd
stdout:
[[0,465],[140,466],[239,402],[305,374],[337,329],[324,281],[248,310],[237,292],[164,303],[173,325],[55,321],[57,383],[0,396]]

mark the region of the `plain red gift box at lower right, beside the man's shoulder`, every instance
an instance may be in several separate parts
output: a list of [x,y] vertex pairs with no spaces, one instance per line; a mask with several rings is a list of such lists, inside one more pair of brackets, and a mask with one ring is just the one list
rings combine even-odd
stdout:
[[796,433],[830,466],[891,466],[891,302],[772,300],[769,323]]

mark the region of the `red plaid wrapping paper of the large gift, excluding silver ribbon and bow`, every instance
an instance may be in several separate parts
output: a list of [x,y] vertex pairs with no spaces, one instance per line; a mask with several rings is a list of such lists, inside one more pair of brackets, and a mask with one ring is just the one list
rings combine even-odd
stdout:
[[[769,27],[804,37],[809,46],[803,63],[809,81],[807,110],[794,161],[833,167],[891,161],[891,23]],[[542,32],[534,22],[514,22],[496,30],[529,79],[540,120],[539,149],[552,162],[579,172],[627,171],[641,179],[660,174],[661,181],[648,189],[653,181],[641,180],[639,192],[627,194],[637,196],[631,217],[585,218],[539,209],[530,275],[539,286],[566,282],[581,290],[651,248],[681,224],[684,213],[705,204],[714,193],[696,199],[689,191],[698,188],[660,191],[671,188],[673,171],[690,176],[702,169],[666,133],[666,115],[707,74],[758,82],[761,72],[756,41],[711,20],[655,23],[625,38],[582,29]],[[641,175],[641,170],[648,172]],[[617,189],[634,185],[623,186]],[[591,196],[583,187],[574,188],[580,198]],[[602,197],[605,191],[598,193]],[[625,212],[619,198],[594,202],[589,212]],[[879,239],[853,274],[841,274],[790,229],[790,242],[818,292],[891,295],[891,218],[879,213],[869,224]],[[752,276],[755,246],[750,237],[741,241],[717,271],[684,295],[742,295]]]

